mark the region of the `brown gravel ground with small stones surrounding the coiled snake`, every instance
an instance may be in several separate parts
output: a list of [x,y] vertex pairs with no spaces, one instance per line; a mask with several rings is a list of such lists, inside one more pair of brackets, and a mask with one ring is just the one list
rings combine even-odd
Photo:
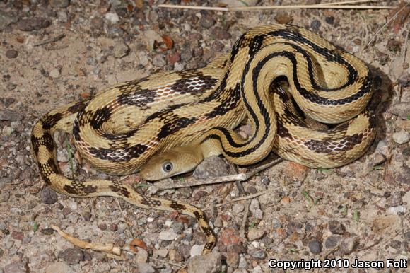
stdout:
[[[409,6],[394,19],[399,8],[223,13],[156,6],[163,2],[0,1],[0,272],[239,273],[270,272],[269,259],[409,260]],[[204,2],[182,1],[214,5]],[[258,5],[302,2],[320,0]],[[391,23],[385,25],[387,21]],[[204,243],[194,219],[109,197],[74,199],[45,187],[30,154],[30,129],[39,117],[118,82],[204,66],[229,52],[245,30],[269,23],[310,28],[370,65],[378,134],[361,159],[332,170],[279,163],[242,184],[247,194],[269,194],[238,202],[229,202],[239,197],[232,183],[158,192],[208,208],[218,244],[206,257],[192,258]],[[69,136],[58,139],[64,143]],[[59,161],[70,174],[67,154],[61,149]],[[228,173],[221,158],[211,158],[197,173],[216,167],[216,175]],[[80,177],[107,177],[76,161],[73,168]],[[123,181],[140,179],[129,175]],[[142,185],[139,191],[148,194]],[[118,260],[74,247],[52,224],[93,243],[127,247],[136,239],[142,248]],[[184,265],[189,267],[181,269]],[[405,269],[382,272],[387,271]]]

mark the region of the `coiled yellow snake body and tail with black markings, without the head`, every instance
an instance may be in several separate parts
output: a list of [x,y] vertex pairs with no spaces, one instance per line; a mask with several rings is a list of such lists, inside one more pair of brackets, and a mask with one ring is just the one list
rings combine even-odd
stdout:
[[[274,92],[272,103],[271,83],[283,76],[289,92]],[[119,83],[48,112],[35,123],[31,146],[40,175],[53,190],[70,197],[117,197],[137,207],[193,216],[206,237],[206,254],[216,236],[203,211],[145,196],[122,182],[64,176],[54,132],[72,134],[81,157],[111,175],[144,170],[151,158],[184,147],[184,155],[199,147],[209,151],[202,156],[223,154],[238,165],[261,161],[272,150],[298,162],[310,160],[305,151],[329,154],[325,161],[340,165],[361,156],[373,141],[371,114],[365,110],[372,94],[372,75],[361,59],[305,28],[264,25],[247,30],[229,54],[204,68]],[[342,123],[312,136],[293,115],[294,104],[318,122]],[[234,130],[245,117],[252,127],[248,139]],[[316,162],[316,168],[324,164]]]

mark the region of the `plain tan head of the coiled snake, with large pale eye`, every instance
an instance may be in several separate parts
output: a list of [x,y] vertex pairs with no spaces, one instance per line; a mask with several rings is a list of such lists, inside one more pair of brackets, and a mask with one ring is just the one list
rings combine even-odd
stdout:
[[203,159],[199,146],[175,147],[151,157],[139,175],[148,181],[170,178],[194,170]]

